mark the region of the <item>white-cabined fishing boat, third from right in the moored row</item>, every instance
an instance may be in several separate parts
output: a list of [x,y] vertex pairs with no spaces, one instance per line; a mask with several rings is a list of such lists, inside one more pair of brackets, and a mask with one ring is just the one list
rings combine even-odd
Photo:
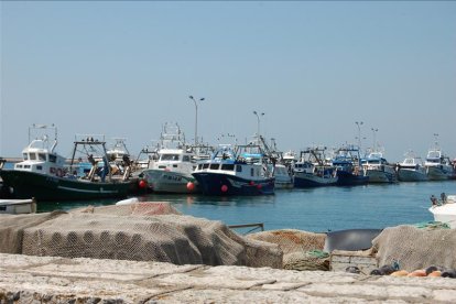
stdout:
[[374,149],[361,160],[363,174],[369,183],[397,183],[398,175],[393,164],[388,163],[380,149]]

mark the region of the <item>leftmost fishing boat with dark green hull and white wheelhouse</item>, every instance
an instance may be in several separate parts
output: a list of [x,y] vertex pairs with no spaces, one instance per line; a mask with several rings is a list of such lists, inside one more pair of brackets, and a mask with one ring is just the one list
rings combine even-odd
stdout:
[[[31,130],[53,130],[55,139],[51,142],[48,135],[44,134],[30,140]],[[15,163],[12,170],[0,171],[3,184],[12,189],[13,198],[34,197],[39,202],[45,202],[124,197],[137,186],[135,181],[129,180],[128,163],[121,176],[112,175],[104,137],[76,139],[69,165],[65,158],[55,152],[56,127],[33,124],[29,129],[29,142],[22,151],[23,160]],[[97,148],[100,148],[101,155],[94,154]],[[91,164],[88,171],[78,165],[87,162],[83,160],[83,154],[87,155]]]

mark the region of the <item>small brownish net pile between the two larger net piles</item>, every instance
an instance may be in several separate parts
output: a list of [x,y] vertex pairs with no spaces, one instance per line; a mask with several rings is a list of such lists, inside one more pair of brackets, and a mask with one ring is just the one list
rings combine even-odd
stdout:
[[252,234],[247,238],[276,243],[283,251],[284,269],[329,270],[329,254],[322,251],[325,234],[284,229]]

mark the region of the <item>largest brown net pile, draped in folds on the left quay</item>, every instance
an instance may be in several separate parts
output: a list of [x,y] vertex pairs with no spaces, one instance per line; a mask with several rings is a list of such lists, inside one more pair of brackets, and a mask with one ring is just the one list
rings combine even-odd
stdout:
[[181,215],[167,203],[89,207],[62,214],[24,229],[22,253],[282,267],[279,246],[246,239],[221,221]]

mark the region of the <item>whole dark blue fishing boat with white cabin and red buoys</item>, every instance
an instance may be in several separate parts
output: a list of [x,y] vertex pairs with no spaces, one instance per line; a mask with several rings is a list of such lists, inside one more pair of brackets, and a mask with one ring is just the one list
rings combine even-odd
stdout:
[[198,163],[193,176],[205,195],[274,194],[275,177],[258,144],[221,145],[210,160]]

